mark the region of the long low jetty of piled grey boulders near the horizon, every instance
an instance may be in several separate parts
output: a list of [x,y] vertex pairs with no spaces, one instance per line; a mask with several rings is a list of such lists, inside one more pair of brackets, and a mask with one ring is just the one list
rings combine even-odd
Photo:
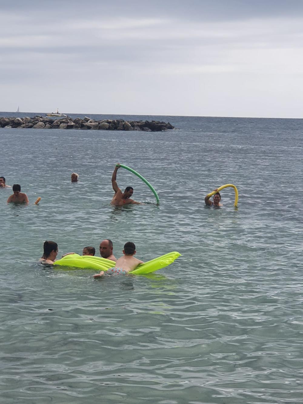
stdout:
[[142,132],[161,132],[174,129],[169,122],[159,121],[124,121],[123,119],[103,119],[96,121],[87,116],[53,120],[43,116],[29,118],[0,118],[0,128],[36,128],[36,129],[84,129],[84,130],[138,130]]

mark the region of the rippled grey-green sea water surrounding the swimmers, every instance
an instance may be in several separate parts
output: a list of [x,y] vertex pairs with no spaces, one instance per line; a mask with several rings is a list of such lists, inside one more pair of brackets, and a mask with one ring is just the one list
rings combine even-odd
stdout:
[[[0,128],[0,175],[31,202],[8,206],[0,189],[1,401],[302,403],[303,121],[146,118],[178,129]],[[117,161],[160,206],[109,205]],[[225,183],[238,210],[231,188],[204,207]],[[122,168],[118,185],[154,202]],[[61,255],[103,238],[116,256],[132,240],[143,261],[182,257],[102,281],[36,264],[44,240]]]

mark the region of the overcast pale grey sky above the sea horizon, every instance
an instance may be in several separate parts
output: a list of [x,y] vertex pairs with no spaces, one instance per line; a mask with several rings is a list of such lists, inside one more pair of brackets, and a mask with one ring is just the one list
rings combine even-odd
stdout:
[[302,0],[0,9],[0,111],[303,118]]

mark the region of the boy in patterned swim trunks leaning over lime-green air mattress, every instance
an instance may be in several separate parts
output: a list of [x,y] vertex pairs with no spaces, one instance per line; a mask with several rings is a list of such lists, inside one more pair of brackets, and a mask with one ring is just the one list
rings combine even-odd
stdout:
[[[143,264],[143,261],[135,258],[136,246],[131,241],[124,244],[124,249],[122,250],[123,256],[117,259],[116,266],[114,268],[109,268],[106,271],[106,275],[127,275],[128,272],[133,271],[137,268],[139,264]],[[94,275],[94,278],[101,278],[104,276],[104,271],[100,274]]]

